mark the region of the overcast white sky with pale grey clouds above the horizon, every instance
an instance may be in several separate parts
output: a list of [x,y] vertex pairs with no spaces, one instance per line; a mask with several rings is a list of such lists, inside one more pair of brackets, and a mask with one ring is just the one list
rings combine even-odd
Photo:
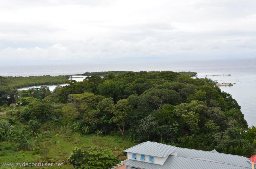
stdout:
[[0,1],[0,65],[255,58],[255,0]]

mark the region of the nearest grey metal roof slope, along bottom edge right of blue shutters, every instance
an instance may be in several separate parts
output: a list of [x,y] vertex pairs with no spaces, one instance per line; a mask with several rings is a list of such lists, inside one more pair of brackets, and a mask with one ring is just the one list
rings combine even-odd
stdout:
[[[218,153],[214,153],[218,154]],[[219,162],[212,162],[212,161],[205,161],[205,160],[198,160],[198,159],[192,159],[192,158],[186,158],[186,157],[180,157],[180,156],[174,156],[170,155],[167,160],[165,161],[163,166],[159,166],[156,169],[183,169],[184,166],[187,166],[186,168],[191,169],[201,169],[201,168],[212,168],[212,169],[249,169],[250,167],[242,167],[242,166],[236,166],[231,164],[225,164],[225,163],[219,163]],[[146,168],[145,168],[146,169]],[[151,168],[152,169],[152,168]]]

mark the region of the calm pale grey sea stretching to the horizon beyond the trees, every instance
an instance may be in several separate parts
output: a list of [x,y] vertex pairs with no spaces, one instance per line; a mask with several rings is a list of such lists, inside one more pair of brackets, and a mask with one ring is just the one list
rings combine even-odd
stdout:
[[[236,83],[231,87],[220,87],[228,92],[241,106],[241,111],[249,126],[256,126],[256,59],[223,59],[172,62],[130,62],[130,63],[95,63],[62,65],[1,66],[1,76],[43,76],[71,75],[97,71],[195,71],[198,76],[220,83]],[[228,75],[214,76],[209,75]],[[82,80],[82,79],[77,79]],[[51,88],[54,88],[53,85]]]

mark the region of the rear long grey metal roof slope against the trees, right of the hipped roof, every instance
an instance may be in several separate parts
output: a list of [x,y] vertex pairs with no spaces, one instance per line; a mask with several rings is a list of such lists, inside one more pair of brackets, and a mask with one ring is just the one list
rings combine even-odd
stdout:
[[[210,151],[180,148],[177,151],[177,156],[194,158],[194,159],[202,158],[204,159],[204,161],[210,161],[210,160],[219,161],[221,163],[251,168],[251,165],[247,162],[247,160],[244,159],[243,156],[239,156],[239,155],[214,153]],[[207,160],[207,159],[210,159],[210,160]]]

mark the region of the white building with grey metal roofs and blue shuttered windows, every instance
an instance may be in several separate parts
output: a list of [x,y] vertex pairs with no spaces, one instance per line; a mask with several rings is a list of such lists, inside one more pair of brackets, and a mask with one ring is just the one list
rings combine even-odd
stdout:
[[249,158],[239,155],[179,148],[150,141],[124,151],[127,152],[127,169],[251,169],[253,166]]

